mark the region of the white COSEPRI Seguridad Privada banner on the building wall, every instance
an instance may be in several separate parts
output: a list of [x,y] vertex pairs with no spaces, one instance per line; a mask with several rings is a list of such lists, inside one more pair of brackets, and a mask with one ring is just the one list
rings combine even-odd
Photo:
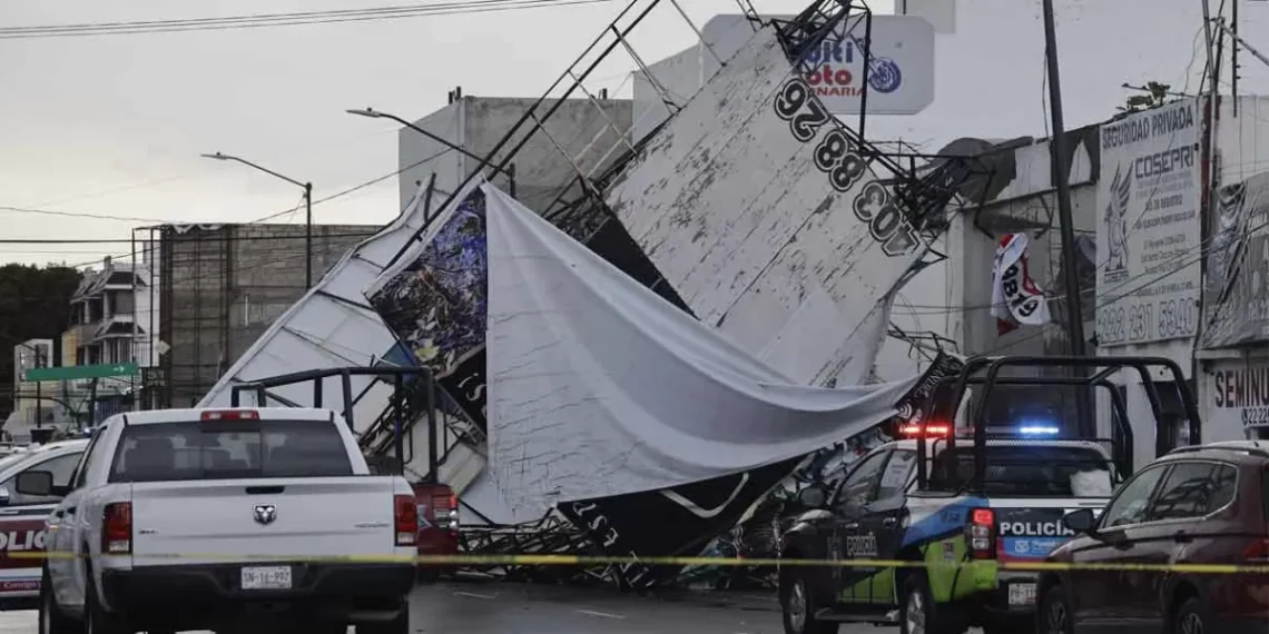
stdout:
[[1100,346],[1192,337],[1198,328],[1200,104],[1183,99],[1101,127]]

